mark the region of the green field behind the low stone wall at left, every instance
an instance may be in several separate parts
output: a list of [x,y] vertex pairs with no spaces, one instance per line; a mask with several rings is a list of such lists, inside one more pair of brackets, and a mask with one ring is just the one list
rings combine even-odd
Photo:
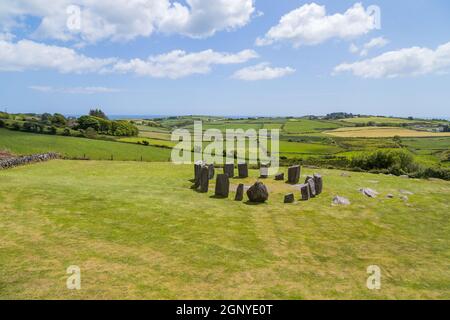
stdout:
[[140,160],[168,161],[170,150],[139,146],[113,141],[90,140],[85,138],[63,137],[25,133],[0,129],[0,149],[7,149],[15,154],[33,154],[58,152],[71,158],[94,160]]

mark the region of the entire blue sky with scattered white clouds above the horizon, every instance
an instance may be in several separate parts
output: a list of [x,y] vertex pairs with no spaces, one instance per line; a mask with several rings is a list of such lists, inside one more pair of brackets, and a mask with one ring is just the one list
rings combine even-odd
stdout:
[[0,110],[450,117],[447,0],[2,0]]

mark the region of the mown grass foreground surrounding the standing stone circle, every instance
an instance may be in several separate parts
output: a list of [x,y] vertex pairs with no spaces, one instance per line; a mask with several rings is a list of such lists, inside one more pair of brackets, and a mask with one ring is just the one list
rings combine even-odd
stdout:
[[[95,161],[0,171],[0,298],[450,298],[448,182],[320,170],[320,198],[284,205],[292,187],[267,180],[269,203],[250,206],[190,190],[192,171]],[[385,198],[400,189],[415,195]],[[352,205],[332,207],[335,194]],[[380,291],[365,287],[373,264]],[[65,288],[69,265],[81,267],[81,291]]]

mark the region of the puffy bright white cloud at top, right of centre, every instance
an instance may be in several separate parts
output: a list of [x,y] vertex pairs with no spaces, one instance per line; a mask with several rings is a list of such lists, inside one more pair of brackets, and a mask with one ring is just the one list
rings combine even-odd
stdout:
[[351,39],[375,29],[375,19],[360,3],[345,13],[327,15],[325,6],[305,4],[286,15],[256,45],[290,42],[294,47],[317,45],[332,38]]

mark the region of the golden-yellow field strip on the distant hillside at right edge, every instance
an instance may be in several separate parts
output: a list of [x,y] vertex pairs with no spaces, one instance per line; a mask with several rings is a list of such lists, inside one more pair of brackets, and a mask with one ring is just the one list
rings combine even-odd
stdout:
[[392,127],[339,128],[325,134],[346,138],[450,137],[450,132],[415,131]]

